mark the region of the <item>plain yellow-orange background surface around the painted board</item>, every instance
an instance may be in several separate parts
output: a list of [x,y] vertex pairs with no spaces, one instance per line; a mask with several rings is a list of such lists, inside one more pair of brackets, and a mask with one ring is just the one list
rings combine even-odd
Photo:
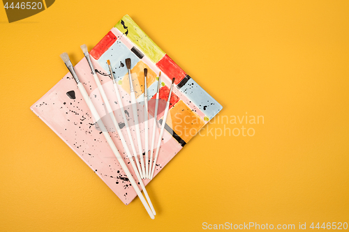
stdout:
[[[29,109],[66,74],[61,52],[76,63],[125,14],[223,105],[219,116],[265,118],[245,125],[253,137],[190,141],[147,187],[154,221]],[[349,1],[59,0],[12,24],[1,8],[0,22],[0,231],[349,222]]]

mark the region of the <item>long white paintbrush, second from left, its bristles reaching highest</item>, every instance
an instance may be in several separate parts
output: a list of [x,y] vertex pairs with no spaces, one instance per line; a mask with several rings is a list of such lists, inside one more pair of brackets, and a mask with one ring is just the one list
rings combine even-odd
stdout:
[[128,146],[126,144],[126,140],[124,139],[124,135],[121,132],[121,129],[119,127],[119,123],[117,122],[117,118],[115,118],[115,115],[114,115],[114,112],[112,110],[112,107],[110,106],[109,100],[107,99],[107,95],[105,95],[105,91],[103,89],[103,86],[102,86],[100,80],[98,79],[98,76],[96,75],[96,72],[94,70],[94,65],[92,65],[92,62],[91,62],[91,59],[90,59],[90,56],[89,56],[89,51],[87,49],[87,46],[86,45],[81,45],[81,49],[82,49],[82,52],[84,52],[84,56],[87,59],[87,62],[89,63],[89,67],[91,68],[92,74],[94,76],[94,81],[96,82],[97,87],[98,87],[98,91],[101,93],[104,105],[105,105],[105,107],[107,109],[108,114],[110,115],[110,118],[112,118],[112,123],[114,124],[114,127],[117,130],[117,134],[119,134],[119,137],[120,137],[120,140],[121,140],[121,144],[124,147],[124,150],[125,150],[126,154],[128,155],[128,160],[130,160],[130,162],[131,162],[131,166],[133,168],[133,171],[135,171],[135,175],[137,176],[137,178],[138,178],[138,180],[140,182],[140,185],[141,185],[142,190],[144,192],[144,195],[145,195],[145,197],[146,197],[146,199],[147,199],[147,201],[149,203],[151,211],[154,213],[154,215],[156,215],[154,207],[153,207],[153,205],[152,205],[152,203],[151,203],[151,201],[149,199],[147,190],[145,190],[144,184],[143,184],[143,182],[141,180],[142,178],[140,177],[140,174],[138,173],[138,169],[135,167],[135,163],[133,161],[133,157],[131,155],[131,152],[130,152],[130,150],[128,150]]

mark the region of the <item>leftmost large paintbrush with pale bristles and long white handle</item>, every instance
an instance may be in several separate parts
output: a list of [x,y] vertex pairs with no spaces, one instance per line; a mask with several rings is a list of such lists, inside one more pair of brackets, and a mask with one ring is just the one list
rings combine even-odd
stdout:
[[79,78],[77,77],[77,74],[76,74],[76,72],[75,72],[75,70],[73,68],[73,64],[71,63],[68,54],[66,54],[66,52],[61,54],[61,59],[64,61],[64,63],[66,64],[66,67],[68,68],[70,74],[75,79],[75,82],[77,84],[77,88],[79,88],[79,91],[80,91],[80,93],[82,95],[82,98],[84,98],[84,101],[87,103],[87,106],[89,107],[89,110],[91,111],[92,116],[96,120],[98,126],[101,128],[101,131],[103,132],[103,136],[107,140],[107,143],[109,144],[110,148],[112,149],[112,152],[114,153],[115,157],[117,157],[117,160],[118,160],[119,164],[121,165],[121,168],[126,173],[126,176],[127,176],[128,180],[130,180],[131,185],[132,185],[133,189],[135,190],[135,192],[137,193],[138,197],[140,198],[140,201],[142,201],[144,208],[147,210],[147,212],[148,212],[149,216],[151,217],[151,219],[154,219],[153,212],[151,212],[151,209],[149,208],[147,201],[144,199],[144,196],[142,195],[142,192],[140,192],[140,189],[138,188],[137,183],[135,183],[135,180],[133,179],[133,176],[131,175],[130,171],[128,170],[128,168],[127,168],[127,166],[126,166],[126,164],[124,162],[124,159],[119,154],[119,151],[117,150],[117,147],[115,146],[114,142],[112,141],[112,138],[110,137],[110,134],[107,132],[107,129],[105,128],[105,125],[104,125],[103,121],[101,120],[101,117],[99,116],[99,114],[98,114],[96,108],[94,107],[94,104],[92,103],[91,99],[89,98],[89,94],[87,93],[87,91],[85,90],[84,86],[82,85],[82,83],[80,82]]

